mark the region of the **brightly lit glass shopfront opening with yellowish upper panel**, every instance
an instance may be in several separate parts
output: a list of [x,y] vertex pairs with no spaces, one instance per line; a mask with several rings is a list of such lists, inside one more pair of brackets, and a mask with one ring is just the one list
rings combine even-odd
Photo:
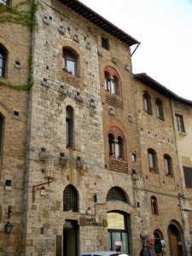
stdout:
[[129,253],[129,216],[124,212],[108,212],[108,251]]

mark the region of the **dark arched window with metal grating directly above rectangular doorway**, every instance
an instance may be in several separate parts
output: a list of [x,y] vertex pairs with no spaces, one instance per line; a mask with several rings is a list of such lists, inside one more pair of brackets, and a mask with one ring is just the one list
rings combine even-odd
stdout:
[[63,191],[63,211],[78,212],[78,193],[73,185],[68,185]]

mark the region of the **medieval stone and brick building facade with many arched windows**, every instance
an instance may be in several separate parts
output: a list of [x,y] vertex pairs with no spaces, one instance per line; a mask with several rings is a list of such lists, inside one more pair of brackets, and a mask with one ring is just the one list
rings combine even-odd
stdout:
[[[30,1],[17,3],[0,7]],[[83,3],[40,3],[32,33],[0,27],[0,255],[133,256],[149,234],[166,255],[189,255],[190,151],[175,114],[189,131],[192,102],[133,74],[139,42]],[[32,88],[14,90],[29,72]]]

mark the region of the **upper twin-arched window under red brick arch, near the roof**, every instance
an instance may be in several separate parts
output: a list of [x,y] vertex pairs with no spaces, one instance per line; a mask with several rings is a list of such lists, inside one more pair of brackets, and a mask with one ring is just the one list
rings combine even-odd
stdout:
[[117,75],[111,75],[106,71],[105,73],[105,90],[111,94],[119,94],[119,79]]

